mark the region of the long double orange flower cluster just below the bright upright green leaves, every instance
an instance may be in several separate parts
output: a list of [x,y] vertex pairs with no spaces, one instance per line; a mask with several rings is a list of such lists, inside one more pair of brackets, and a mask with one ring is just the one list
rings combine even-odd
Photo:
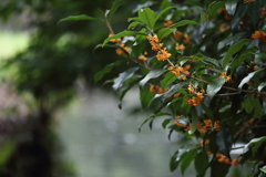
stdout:
[[166,51],[166,48],[162,49],[163,43],[160,43],[160,40],[157,39],[157,35],[147,35],[146,39],[152,45],[153,51],[157,51],[157,60],[158,61],[165,61],[167,60],[172,54]]

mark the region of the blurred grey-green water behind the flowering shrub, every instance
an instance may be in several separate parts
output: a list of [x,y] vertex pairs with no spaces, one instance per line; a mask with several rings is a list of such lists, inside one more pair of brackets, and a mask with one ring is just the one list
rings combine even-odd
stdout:
[[153,131],[144,125],[139,133],[149,115],[129,115],[130,107],[140,105],[137,91],[125,96],[124,110],[117,103],[110,93],[90,90],[59,113],[64,154],[75,164],[79,177],[180,176],[168,169],[177,145],[168,142],[162,118],[155,121]]

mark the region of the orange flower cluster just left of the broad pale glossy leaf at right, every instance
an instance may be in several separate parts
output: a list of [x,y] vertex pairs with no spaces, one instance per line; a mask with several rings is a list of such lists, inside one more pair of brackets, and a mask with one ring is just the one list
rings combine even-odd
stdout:
[[197,87],[193,87],[192,84],[188,85],[187,90],[191,94],[193,94],[193,96],[192,97],[186,97],[186,104],[191,105],[191,106],[198,105],[202,102],[202,100],[204,98],[203,94],[205,93],[205,91],[201,90],[198,92]]

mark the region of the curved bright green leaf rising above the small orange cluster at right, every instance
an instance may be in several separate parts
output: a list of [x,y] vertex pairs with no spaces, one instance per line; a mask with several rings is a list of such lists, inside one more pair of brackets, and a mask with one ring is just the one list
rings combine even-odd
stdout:
[[238,52],[243,45],[245,45],[247,42],[249,42],[250,40],[249,39],[244,39],[244,40],[241,40],[238,42],[236,42],[235,44],[233,44],[227,53],[225,54],[224,59],[223,59],[223,62],[222,62],[222,66],[223,69],[226,67],[226,65],[228,64],[231,58],[233,56],[233,54],[235,54],[236,52]]

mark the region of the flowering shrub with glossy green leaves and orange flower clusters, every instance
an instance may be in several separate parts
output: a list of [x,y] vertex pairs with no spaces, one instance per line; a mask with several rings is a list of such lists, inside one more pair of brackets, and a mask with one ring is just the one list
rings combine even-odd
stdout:
[[[266,167],[266,1],[186,0],[143,2],[124,31],[113,31],[114,1],[102,19],[71,15],[68,20],[100,20],[110,33],[98,48],[114,48],[119,58],[95,75],[115,67],[106,81],[122,102],[134,85],[143,110],[153,114],[141,127],[164,116],[163,128],[184,134],[184,146],[171,157],[170,168],[182,174],[194,162],[197,177],[211,168],[223,177],[232,166],[250,164],[254,176]],[[234,146],[244,143],[245,146]],[[232,150],[243,149],[238,156]]]

